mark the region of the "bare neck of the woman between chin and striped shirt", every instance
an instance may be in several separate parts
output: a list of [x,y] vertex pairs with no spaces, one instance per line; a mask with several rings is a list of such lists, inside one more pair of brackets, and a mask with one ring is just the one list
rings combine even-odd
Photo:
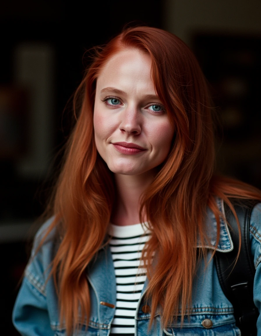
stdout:
[[[111,216],[115,225],[132,225],[140,223],[140,198],[153,180],[153,175],[115,174],[117,199]],[[146,217],[143,218],[146,221]]]

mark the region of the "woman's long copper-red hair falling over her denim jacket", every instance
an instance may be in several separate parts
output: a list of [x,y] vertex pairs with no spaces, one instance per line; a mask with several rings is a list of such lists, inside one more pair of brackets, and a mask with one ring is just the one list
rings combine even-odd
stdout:
[[215,110],[202,71],[187,45],[173,34],[156,28],[124,30],[97,49],[75,93],[75,110],[79,104],[81,109],[67,143],[65,163],[51,206],[55,220],[49,231],[57,227],[62,238],[52,263],[52,275],[59,297],[60,318],[65,321],[68,334],[79,323],[79,305],[80,322],[89,316],[91,302],[85,270],[106,243],[113,207],[113,175],[97,153],[93,108],[96,79],[108,59],[122,48],[137,48],[151,56],[155,90],[175,129],[169,156],[142,196],[140,209],[141,221],[142,214],[146,213],[152,231],[147,253],[142,258],[145,262],[146,258],[151,260],[157,251],[157,264],[153,269],[151,263],[147,263],[146,295],[152,302],[151,323],[159,304],[163,325],[178,314],[183,320],[189,313],[197,264],[195,246],[198,238],[203,244],[208,239],[204,221],[206,207],[215,214],[219,229],[216,196],[230,207],[229,198],[261,200],[256,188],[214,174],[212,114]]

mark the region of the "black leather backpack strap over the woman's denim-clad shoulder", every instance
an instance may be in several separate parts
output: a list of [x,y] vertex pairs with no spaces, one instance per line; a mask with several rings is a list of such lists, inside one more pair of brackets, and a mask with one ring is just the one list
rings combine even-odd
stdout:
[[241,228],[241,249],[236,263],[239,250],[238,224],[232,211],[224,203],[234,248],[227,253],[218,251],[215,253],[219,283],[233,305],[236,325],[241,330],[242,336],[257,335],[256,322],[259,313],[253,301],[255,266],[249,243],[250,216],[257,203],[255,200],[236,200],[233,203]]

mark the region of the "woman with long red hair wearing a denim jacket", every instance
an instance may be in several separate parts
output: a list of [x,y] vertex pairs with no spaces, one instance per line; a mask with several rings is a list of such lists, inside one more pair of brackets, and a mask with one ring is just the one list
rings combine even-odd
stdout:
[[[126,29],[97,51],[79,101],[16,328],[30,336],[240,335],[213,254],[233,248],[223,203],[261,193],[214,174],[214,111],[192,52],[168,32]],[[250,232],[259,310],[260,210]],[[260,319],[257,326],[260,334]]]

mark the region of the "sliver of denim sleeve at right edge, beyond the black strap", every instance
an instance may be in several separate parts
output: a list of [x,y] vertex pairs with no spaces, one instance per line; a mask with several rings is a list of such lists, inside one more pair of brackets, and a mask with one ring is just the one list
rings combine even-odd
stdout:
[[250,220],[250,243],[256,268],[254,278],[254,303],[259,311],[257,335],[261,336],[261,203],[256,205],[252,211]]

